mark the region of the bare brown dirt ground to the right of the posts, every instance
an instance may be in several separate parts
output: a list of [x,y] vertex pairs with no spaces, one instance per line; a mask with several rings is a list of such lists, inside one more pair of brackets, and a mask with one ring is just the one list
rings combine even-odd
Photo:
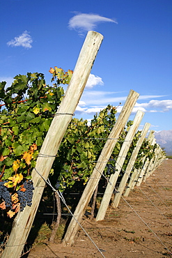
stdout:
[[118,208],[109,208],[105,220],[84,218],[82,226],[102,253],[79,230],[72,247],[47,242],[33,248],[29,258],[172,257],[171,197],[172,160],[164,160],[146,183],[130,191],[126,201],[133,209],[121,199]]

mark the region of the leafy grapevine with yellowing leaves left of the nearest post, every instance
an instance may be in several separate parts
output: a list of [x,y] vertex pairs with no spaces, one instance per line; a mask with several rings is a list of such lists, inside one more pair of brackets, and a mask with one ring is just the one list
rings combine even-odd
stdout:
[[53,86],[42,73],[17,75],[6,89],[0,83],[0,207],[10,218],[31,206],[31,170],[64,95],[60,84],[68,84],[72,71],[50,68]]

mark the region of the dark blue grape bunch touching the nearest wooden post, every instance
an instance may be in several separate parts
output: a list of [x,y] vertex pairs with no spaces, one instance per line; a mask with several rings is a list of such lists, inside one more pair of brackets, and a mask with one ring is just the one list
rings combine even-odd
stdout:
[[33,197],[33,182],[32,181],[26,181],[24,182],[24,188],[26,191],[17,191],[19,203],[20,203],[20,211],[23,211],[26,205],[31,206],[32,197]]

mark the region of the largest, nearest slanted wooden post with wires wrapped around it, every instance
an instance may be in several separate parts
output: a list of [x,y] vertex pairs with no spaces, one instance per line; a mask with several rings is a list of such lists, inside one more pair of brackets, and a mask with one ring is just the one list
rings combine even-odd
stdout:
[[[56,112],[56,116],[54,116],[49,131],[47,132],[45,141],[40,150],[41,155],[40,157],[38,156],[36,162],[36,170],[45,179],[47,179],[47,176],[49,175],[49,171],[54,162],[54,156],[58,151],[65,130],[68,128],[68,124],[72,119],[72,114],[75,112],[81,94],[84,91],[84,86],[86,85],[88,76],[91,72],[102,39],[103,36],[100,33],[88,31],[72,79],[61,105]],[[24,211],[19,212],[15,218],[13,229],[10,233],[6,248],[3,251],[2,258],[19,258],[26,243],[45,187],[45,181],[40,177],[36,170],[33,169],[32,172],[33,185],[35,188],[33,192],[33,204],[31,207],[26,206]]]

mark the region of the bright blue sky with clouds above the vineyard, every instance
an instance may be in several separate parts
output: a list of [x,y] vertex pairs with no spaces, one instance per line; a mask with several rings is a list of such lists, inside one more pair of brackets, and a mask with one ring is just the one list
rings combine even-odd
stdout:
[[[130,89],[151,130],[172,129],[171,0],[0,0],[0,81],[49,68],[74,69],[88,30],[104,40],[75,117],[108,104],[120,112]],[[141,127],[140,127],[141,128]]]

